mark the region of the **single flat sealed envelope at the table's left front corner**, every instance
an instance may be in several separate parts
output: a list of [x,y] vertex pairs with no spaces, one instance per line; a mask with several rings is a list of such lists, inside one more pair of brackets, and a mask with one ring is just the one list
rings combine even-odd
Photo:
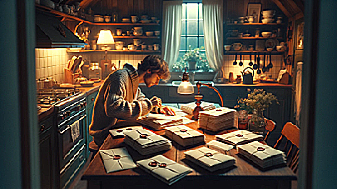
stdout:
[[99,154],[102,157],[106,173],[136,167],[125,147],[99,150]]

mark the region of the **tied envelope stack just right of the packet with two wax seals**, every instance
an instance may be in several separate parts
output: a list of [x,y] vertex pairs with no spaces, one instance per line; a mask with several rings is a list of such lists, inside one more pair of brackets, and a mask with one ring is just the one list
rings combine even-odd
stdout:
[[200,147],[184,153],[186,159],[211,172],[233,166],[235,163],[234,157],[207,147]]

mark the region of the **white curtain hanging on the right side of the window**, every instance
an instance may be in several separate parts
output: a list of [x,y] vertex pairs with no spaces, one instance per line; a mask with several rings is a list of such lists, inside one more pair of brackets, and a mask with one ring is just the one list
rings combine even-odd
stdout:
[[211,68],[221,68],[223,60],[222,0],[203,0],[204,41]]

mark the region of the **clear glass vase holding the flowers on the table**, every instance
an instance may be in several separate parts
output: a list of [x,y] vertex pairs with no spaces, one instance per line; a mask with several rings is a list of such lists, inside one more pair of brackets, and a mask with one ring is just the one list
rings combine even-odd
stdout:
[[265,116],[263,115],[262,109],[253,109],[252,117],[249,120],[249,129],[250,131],[264,135],[265,134]]

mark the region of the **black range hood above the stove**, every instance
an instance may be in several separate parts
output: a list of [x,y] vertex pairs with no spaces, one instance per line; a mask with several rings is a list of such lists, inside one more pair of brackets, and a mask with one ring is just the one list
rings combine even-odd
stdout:
[[36,48],[84,47],[86,45],[53,15],[36,12],[35,24]]

